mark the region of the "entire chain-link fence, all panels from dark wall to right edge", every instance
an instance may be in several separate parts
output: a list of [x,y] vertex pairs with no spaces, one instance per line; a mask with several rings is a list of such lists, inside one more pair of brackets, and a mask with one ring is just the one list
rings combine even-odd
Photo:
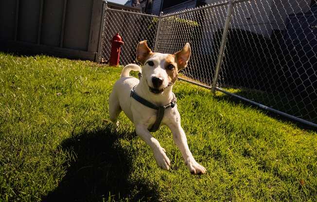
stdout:
[[100,62],[117,32],[122,65],[135,62],[141,40],[163,53],[189,42],[182,80],[317,126],[315,0],[234,0],[160,17],[106,9]]

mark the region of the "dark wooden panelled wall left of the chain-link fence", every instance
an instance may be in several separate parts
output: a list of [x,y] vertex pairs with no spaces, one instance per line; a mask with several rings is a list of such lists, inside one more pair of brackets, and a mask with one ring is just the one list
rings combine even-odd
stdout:
[[102,0],[0,0],[0,50],[95,60]]

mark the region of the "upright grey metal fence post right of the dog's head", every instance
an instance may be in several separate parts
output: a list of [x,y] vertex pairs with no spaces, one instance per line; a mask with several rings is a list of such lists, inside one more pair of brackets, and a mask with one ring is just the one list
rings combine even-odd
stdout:
[[217,65],[216,65],[216,70],[215,70],[215,73],[214,73],[214,76],[213,76],[212,85],[211,85],[211,92],[212,93],[215,93],[216,85],[218,83],[218,78],[219,78],[219,73],[220,73],[220,70],[221,70],[222,59],[223,59],[224,51],[225,51],[225,47],[226,47],[226,40],[227,40],[227,35],[228,35],[228,30],[229,30],[229,25],[230,25],[230,20],[231,20],[232,8],[233,8],[233,0],[230,0],[229,3],[228,3],[228,11],[227,11],[227,16],[226,16],[226,22],[225,22],[224,31],[222,33],[221,44],[220,44],[220,49],[219,49],[219,54],[218,54]]

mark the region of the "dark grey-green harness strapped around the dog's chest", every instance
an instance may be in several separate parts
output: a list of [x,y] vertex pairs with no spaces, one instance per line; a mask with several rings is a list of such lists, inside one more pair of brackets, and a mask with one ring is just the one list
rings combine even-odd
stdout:
[[175,94],[173,93],[173,99],[172,99],[172,101],[169,104],[167,104],[165,106],[156,106],[155,104],[153,104],[153,103],[141,98],[135,92],[134,87],[131,90],[130,97],[134,98],[134,100],[140,102],[141,104],[158,111],[157,116],[156,116],[156,120],[155,120],[154,124],[152,125],[152,127],[149,129],[150,132],[156,132],[158,130],[158,128],[159,128],[159,125],[160,125],[162,119],[163,119],[165,109],[170,108],[170,107],[172,107],[172,108],[175,107],[175,105],[176,105]]

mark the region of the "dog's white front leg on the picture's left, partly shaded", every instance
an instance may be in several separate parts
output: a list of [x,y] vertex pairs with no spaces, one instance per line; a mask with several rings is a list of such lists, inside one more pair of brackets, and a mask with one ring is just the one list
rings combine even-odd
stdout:
[[159,168],[168,170],[171,166],[170,159],[166,156],[164,148],[162,148],[157,139],[155,139],[144,125],[136,126],[136,133],[146,142],[152,149],[156,163]]

